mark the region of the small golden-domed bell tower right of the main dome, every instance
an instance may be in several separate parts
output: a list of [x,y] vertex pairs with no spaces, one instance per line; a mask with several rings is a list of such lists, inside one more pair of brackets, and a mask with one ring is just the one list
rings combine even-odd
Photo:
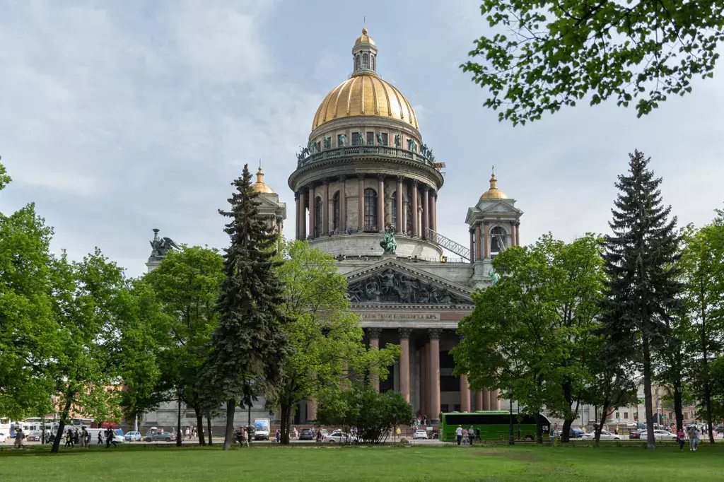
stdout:
[[489,182],[476,206],[468,208],[465,220],[470,231],[473,287],[489,286],[492,258],[509,246],[521,245],[523,211],[515,207],[515,199],[498,189],[494,167]]

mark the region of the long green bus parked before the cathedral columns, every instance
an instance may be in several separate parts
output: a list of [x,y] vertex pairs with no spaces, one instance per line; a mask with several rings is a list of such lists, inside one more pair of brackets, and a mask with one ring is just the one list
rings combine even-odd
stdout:
[[[541,414],[543,437],[550,434],[550,420]],[[457,441],[455,429],[458,426],[470,428],[477,433],[480,428],[482,440],[510,440],[510,412],[505,410],[441,413],[439,439]],[[516,440],[534,440],[536,438],[536,418],[534,415],[513,414],[513,438]]]

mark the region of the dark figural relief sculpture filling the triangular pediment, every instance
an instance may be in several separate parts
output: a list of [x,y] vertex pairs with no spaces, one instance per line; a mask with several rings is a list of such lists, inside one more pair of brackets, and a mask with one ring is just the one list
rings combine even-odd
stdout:
[[394,269],[350,283],[352,303],[405,303],[418,305],[470,305],[471,301]]

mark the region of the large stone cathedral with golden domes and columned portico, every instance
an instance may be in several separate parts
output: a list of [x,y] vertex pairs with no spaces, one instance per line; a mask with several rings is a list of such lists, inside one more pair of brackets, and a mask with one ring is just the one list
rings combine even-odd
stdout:
[[[313,114],[306,145],[289,177],[296,239],[337,259],[366,342],[402,348],[376,388],[402,393],[433,422],[440,412],[499,410],[498,392],[471,393],[466,376],[452,375],[450,350],[459,339],[458,322],[473,309],[471,293],[491,284],[492,258],[519,243],[523,212],[515,200],[497,188],[492,174],[489,190],[471,199],[465,214],[469,246],[437,232],[445,164],[424,143],[410,101],[377,72],[377,46],[367,30],[352,48],[352,73]],[[260,167],[253,186],[261,212],[281,232],[287,205],[263,178]],[[389,234],[396,249],[382,248]],[[158,262],[158,256],[149,259],[148,269]],[[261,405],[258,410],[255,416]],[[156,420],[166,418],[164,411],[149,413],[144,425],[175,425]],[[308,400],[293,423],[315,419],[316,405]]]

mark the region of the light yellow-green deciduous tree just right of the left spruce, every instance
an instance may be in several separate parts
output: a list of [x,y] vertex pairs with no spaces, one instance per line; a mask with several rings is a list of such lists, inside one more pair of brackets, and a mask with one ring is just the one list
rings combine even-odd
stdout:
[[294,351],[282,365],[277,399],[282,412],[282,443],[289,443],[292,410],[303,399],[316,399],[322,389],[341,389],[350,373],[385,379],[387,366],[399,355],[397,345],[367,350],[359,317],[350,311],[347,282],[334,257],[289,241],[279,252],[277,274],[284,286],[282,310]]

